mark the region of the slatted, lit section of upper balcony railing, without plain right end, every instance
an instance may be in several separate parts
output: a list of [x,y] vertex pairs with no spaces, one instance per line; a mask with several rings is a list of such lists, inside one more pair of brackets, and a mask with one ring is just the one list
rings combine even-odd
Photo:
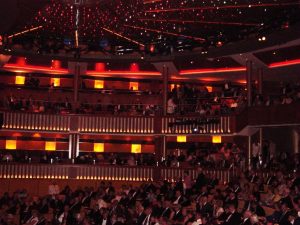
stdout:
[[[233,132],[232,117],[209,117],[216,123],[203,123],[200,134],[228,134]],[[177,120],[180,125],[170,126]],[[53,115],[39,113],[3,112],[3,129],[119,134],[192,134],[195,123],[201,117],[140,117],[140,116],[97,116],[97,115]],[[191,121],[195,121],[194,124]],[[186,122],[186,123],[185,123]]]

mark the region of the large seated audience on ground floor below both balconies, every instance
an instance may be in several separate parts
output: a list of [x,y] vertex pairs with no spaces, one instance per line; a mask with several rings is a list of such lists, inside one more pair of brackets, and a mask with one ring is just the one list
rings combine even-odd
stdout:
[[300,212],[299,173],[239,172],[229,183],[188,171],[175,182],[123,184],[100,181],[97,188],[55,181],[44,196],[24,189],[0,198],[3,225],[297,225]]

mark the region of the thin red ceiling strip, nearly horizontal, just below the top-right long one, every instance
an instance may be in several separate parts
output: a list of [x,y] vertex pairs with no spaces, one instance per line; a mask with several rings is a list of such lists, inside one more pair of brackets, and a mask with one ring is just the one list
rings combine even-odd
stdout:
[[214,24],[214,25],[233,25],[233,26],[255,26],[259,27],[258,23],[239,23],[239,22],[223,22],[223,21],[204,21],[204,20],[165,20],[165,19],[149,19],[140,18],[141,21],[164,22],[164,23],[198,23],[198,24]]

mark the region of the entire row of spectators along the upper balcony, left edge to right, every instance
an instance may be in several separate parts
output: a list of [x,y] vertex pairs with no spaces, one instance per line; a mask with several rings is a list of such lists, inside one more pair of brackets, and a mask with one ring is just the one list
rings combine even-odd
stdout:
[[[26,82],[28,87],[36,87],[38,79],[30,78]],[[277,95],[260,95],[253,91],[253,103],[257,106],[285,105],[300,102],[300,85],[284,85]],[[51,94],[51,87],[49,89]],[[130,91],[129,91],[130,93]],[[132,92],[133,93],[133,92]],[[147,92],[149,95],[150,92]],[[151,93],[150,93],[151,94]],[[142,99],[142,98],[141,98]],[[167,114],[169,115],[194,115],[194,116],[219,116],[238,113],[246,106],[246,92],[241,86],[234,86],[225,82],[216,90],[208,90],[206,86],[182,84],[175,85],[168,94]],[[35,99],[33,96],[16,97],[6,96],[0,102],[5,110],[14,110],[34,113],[80,113],[120,116],[156,116],[162,115],[162,105],[145,104],[142,100],[131,104],[103,103],[98,99],[95,103],[86,99],[74,105],[65,99]]]

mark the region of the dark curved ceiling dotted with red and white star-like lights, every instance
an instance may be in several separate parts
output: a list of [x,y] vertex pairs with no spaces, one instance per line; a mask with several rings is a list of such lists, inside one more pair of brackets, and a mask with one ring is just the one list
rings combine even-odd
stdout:
[[[298,0],[115,0],[66,4],[62,0],[12,0],[1,4],[3,26],[11,35],[32,27],[32,44],[60,40],[91,51],[145,50],[158,53],[223,46],[263,38],[300,21]],[[91,1],[89,1],[91,3]],[[5,21],[5,22],[4,22]],[[77,25],[78,26],[77,26]],[[0,24],[2,25],[2,24]],[[51,40],[49,40],[51,39]],[[152,49],[153,46],[153,49]]]

